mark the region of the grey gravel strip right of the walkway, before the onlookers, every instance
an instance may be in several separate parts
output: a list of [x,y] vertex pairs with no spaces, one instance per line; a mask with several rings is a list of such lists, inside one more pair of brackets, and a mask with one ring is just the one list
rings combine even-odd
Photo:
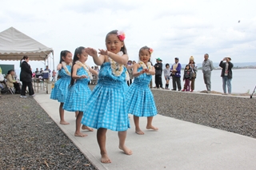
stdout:
[[256,99],[152,90],[158,114],[256,138]]

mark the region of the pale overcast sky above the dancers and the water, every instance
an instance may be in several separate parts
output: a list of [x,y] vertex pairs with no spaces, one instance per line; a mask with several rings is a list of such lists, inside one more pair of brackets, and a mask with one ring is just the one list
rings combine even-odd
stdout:
[[[13,26],[53,48],[55,66],[63,49],[106,49],[111,30],[126,33],[130,60],[138,61],[138,49],[148,45],[153,63],[156,57],[164,63],[179,57],[186,64],[191,55],[202,63],[204,53],[214,62],[227,56],[233,62],[256,61],[255,0],[3,0],[1,6],[0,32]],[[87,63],[94,65],[91,57]],[[42,62],[30,65],[43,67]]]

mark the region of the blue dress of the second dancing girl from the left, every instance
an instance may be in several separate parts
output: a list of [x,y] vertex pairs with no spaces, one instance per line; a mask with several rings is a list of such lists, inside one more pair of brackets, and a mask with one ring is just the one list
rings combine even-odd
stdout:
[[87,78],[77,79],[74,85],[69,88],[69,93],[64,102],[63,109],[70,112],[83,112],[86,109],[86,102],[91,94],[90,88],[88,87],[90,77],[86,72],[86,69],[83,67],[79,68],[77,75],[86,75]]

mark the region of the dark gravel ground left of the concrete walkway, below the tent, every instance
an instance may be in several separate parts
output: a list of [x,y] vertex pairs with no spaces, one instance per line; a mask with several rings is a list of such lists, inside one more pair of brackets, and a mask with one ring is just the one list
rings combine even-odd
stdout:
[[0,98],[0,169],[96,169],[33,97]]

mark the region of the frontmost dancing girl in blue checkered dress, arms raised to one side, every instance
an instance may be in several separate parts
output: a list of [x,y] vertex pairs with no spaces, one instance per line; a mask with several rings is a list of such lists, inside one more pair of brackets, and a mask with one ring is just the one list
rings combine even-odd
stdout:
[[98,85],[88,100],[82,124],[98,129],[97,140],[102,163],[111,163],[106,152],[107,129],[118,131],[119,148],[127,155],[132,154],[125,145],[126,130],[130,128],[130,122],[125,101],[125,65],[128,56],[124,39],[125,34],[122,31],[113,30],[106,34],[106,50],[99,49],[99,57],[95,49],[86,49],[86,53],[94,58],[96,65],[101,65],[101,69],[98,74]]

